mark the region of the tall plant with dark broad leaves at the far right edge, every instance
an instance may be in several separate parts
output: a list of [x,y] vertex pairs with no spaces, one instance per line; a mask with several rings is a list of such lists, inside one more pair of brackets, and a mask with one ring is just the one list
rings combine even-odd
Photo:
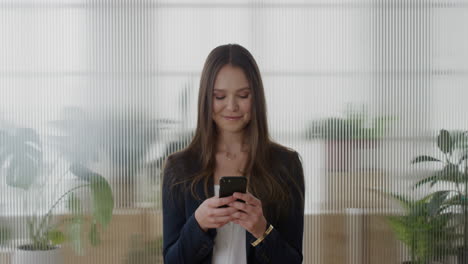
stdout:
[[437,148],[442,158],[429,155],[416,157],[412,163],[434,162],[441,165],[436,170],[418,181],[414,188],[430,184],[433,187],[439,182],[450,183],[451,188],[437,191],[443,195],[440,206],[451,210],[456,215],[455,221],[461,229],[461,238],[456,240],[458,245],[458,262],[468,262],[468,138],[466,132],[440,130],[437,136]]

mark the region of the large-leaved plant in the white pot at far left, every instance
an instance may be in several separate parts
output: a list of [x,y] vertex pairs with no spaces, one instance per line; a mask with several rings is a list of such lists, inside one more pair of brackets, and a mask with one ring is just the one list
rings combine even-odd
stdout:
[[[43,156],[42,141],[33,129],[0,131],[0,167],[5,169],[7,185],[24,193],[34,189],[36,201],[45,201],[44,195],[56,187],[37,184],[48,173]],[[110,185],[104,177],[80,163],[68,164],[62,177],[65,175],[74,176],[79,184],[55,197],[45,213],[26,216],[27,224],[24,229],[27,230],[28,239],[18,246],[13,255],[13,263],[60,263],[61,244],[65,241],[70,241],[73,249],[82,253],[81,239],[86,229],[91,245],[100,243],[99,230],[108,226],[114,208]],[[77,191],[83,189],[91,194],[91,217],[85,217],[77,195]],[[71,214],[58,217],[54,215],[54,209],[62,203],[65,203]]]

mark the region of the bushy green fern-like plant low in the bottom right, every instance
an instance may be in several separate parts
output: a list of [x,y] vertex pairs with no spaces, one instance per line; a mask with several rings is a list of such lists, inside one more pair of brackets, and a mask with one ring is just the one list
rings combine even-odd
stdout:
[[402,215],[387,216],[387,222],[409,249],[410,260],[404,264],[441,263],[444,257],[455,251],[453,242],[459,235],[456,225],[451,224],[453,213],[442,204],[444,196],[434,193],[413,200],[391,194],[404,209]]

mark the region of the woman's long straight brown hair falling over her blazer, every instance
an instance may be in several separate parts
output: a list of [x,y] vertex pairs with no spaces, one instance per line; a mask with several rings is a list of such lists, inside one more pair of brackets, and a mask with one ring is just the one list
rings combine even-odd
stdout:
[[[282,162],[272,162],[272,149],[286,149],[274,143],[268,132],[267,111],[264,88],[259,68],[252,54],[244,47],[237,44],[218,46],[208,55],[200,80],[198,94],[198,121],[195,136],[190,145],[184,150],[196,153],[199,157],[201,170],[190,179],[190,190],[196,199],[198,197],[195,186],[203,181],[204,192],[209,197],[208,186],[210,177],[215,170],[215,154],[217,142],[216,125],[212,119],[212,98],[216,76],[219,70],[230,64],[243,69],[249,81],[252,95],[251,120],[246,126],[246,142],[249,144],[249,159],[244,169],[245,176],[249,179],[249,192],[259,198],[264,205],[275,202],[288,202],[291,194],[288,188],[284,188],[286,182],[275,173],[290,173]],[[287,150],[286,150],[287,151]],[[272,166],[276,164],[277,167]],[[179,182],[180,183],[180,182]],[[295,183],[300,184],[300,183]],[[298,186],[300,189],[300,187]],[[301,194],[301,198],[302,194]]]

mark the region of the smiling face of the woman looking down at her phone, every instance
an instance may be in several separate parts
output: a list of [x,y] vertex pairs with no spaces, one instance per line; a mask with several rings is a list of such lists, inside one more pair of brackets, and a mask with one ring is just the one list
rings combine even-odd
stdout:
[[251,119],[249,81],[239,67],[225,65],[216,76],[213,91],[213,121],[220,131],[240,132]]

